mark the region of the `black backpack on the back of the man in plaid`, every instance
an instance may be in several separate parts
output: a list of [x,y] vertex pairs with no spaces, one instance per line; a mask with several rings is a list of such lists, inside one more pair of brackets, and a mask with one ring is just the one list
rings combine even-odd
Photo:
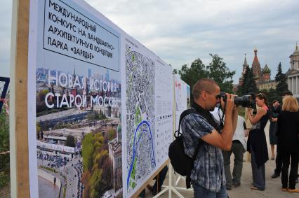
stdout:
[[[168,156],[171,160],[171,165],[175,172],[180,174],[181,176],[186,176],[186,188],[190,188],[191,185],[191,171],[193,169],[194,160],[197,157],[197,153],[199,150],[199,146],[197,146],[197,149],[194,153],[194,157],[191,158],[187,155],[185,155],[184,150],[184,143],[182,140],[182,133],[180,132],[180,124],[182,122],[182,118],[185,118],[186,115],[189,115],[190,113],[197,113],[193,108],[187,109],[182,112],[180,115],[180,121],[178,124],[178,130],[175,131],[175,140],[169,145],[168,148]],[[199,114],[199,113],[197,113]],[[200,143],[199,143],[200,144]]]

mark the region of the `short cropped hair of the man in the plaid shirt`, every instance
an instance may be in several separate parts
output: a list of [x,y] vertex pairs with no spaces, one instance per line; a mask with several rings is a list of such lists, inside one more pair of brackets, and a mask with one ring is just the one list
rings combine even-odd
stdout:
[[210,78],[201,78],[195,83],[192,89],[192,95],[194,100],[199,99],[199,96],[201,92],[207,91],[207,92],[214,92],[215,87],[218,86],[215,80],[212,80]]

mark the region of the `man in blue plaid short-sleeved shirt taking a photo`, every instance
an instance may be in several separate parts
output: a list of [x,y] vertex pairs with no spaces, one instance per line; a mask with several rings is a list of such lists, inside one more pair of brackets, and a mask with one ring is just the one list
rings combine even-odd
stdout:
[[[234,95],[225,94],[224,102],[220,87],[208,78],[198,80],[192,94],[192,108],[200,113],[191,113],[182,119],[182,136],[186,155],[192,158],[196,155],[191,173],[194,197],[227,197],[221,150],[230,150],[237,125]],[[220,122],[209,113],[220,101],[225,109],[222,129]]]

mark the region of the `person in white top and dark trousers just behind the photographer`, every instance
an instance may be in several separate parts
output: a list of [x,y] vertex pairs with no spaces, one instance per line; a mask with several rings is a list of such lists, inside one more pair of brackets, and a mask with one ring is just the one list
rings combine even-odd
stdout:
[[[232,190],[232,185],[239,186],[242,169],[243,169],[243,155],[246,151],[245,137],[248,135],[245,120],[238,115],[237,128],[232,137],[232,148],[229,151],[222,151],[224,166],[225,166],[225,178],[226,178],[226,190]],[[234,169],[232,174],[230,172],[230,155],[234,153]]]

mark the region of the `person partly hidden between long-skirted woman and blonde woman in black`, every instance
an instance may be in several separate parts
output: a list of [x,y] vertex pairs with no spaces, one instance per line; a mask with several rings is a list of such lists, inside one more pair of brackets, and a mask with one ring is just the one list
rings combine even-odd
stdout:
[[275,160],[274,148],[277,145],[277,117],[280,112],[279,101],[274,100],[270,106],[270,128],[269,128],[269,139],[271,145],[271,160]]

